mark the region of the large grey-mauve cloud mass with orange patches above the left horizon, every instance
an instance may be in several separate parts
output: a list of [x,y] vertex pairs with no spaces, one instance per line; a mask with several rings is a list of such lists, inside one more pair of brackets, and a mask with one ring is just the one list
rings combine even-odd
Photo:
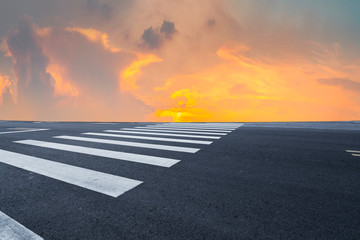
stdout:
[[129,79],[123,79],[125,69],[130,66],[140,71],[158,61],[156,56],[149,59],[144,55],[147,60],[136,64],[140,55],[113,46],[105,32],[81,27],[39,28],[30,18],[22,19],[5,42],[16,81],[12,84],[1,78],[1,93],[9,93],[13,86],[18,93],[18,107],[11,116],[134,121],[145,115],[146,105],[131,94],[122,94],[120,85]]

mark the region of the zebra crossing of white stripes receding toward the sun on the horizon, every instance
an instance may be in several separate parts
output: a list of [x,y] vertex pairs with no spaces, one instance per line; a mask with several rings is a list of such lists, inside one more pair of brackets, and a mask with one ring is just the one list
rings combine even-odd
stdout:
[[[77,141],[80,143],[91,142],[99,143],[100,145],[107,144],[133,147],[136,149],[156,149],[168,152],[194,154],[201,150],[201,145],[209,145],[241,126],[242,124],[238,123],[159,123],[148,124],[145,127],[109,129],[101,132],[84,132],[81,133],[80,136],[60,135],[52,136],[52,138]],[[182,129],[191,129],[191,131]],[[137,142],[138,140],[146,140],[151,143]],[[14,141],[14,143],[163,168],[170,168],[181,161],[181,159],[34,139],[17,140]],[[187,146],[176,146],[172,143],[181,143]],[[0,162],[111,197],[119,197],[143,183],[141,180],[115,176],[54,162],[50,159],[33,157],[1,149]]]

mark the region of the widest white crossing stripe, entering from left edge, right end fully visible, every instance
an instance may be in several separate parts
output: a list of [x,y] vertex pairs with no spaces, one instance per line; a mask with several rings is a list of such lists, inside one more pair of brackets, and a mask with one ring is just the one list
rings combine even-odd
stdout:
[[0,150],[0,162],[112,197],[118,197],[142,183],[130,178],[4,150]]

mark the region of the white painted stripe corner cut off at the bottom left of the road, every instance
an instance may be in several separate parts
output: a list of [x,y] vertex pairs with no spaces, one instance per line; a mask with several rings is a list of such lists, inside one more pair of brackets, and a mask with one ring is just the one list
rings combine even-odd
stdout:
[[0,212],[0,239],[1,240],[43,240],[3,212]]

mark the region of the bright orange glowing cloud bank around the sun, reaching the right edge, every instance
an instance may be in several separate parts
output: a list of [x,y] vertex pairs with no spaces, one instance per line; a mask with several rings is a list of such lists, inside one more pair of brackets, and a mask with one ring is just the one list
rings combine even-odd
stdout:
[[356,94],[318,81],[334,77],[356,79],[358,68],[341,62],[336,56],[337,47],[322,48],[316,59],[280,61],[251,56],[251,49],[240,43],[225,44],[217,51],[220,64],[194,74],[177,75],[163,87],[155,88],[161,98],[153,104],[151,120],[171,117],[174,121],[300,121],[360,117],[360,107],[353,104],[359,100]]

